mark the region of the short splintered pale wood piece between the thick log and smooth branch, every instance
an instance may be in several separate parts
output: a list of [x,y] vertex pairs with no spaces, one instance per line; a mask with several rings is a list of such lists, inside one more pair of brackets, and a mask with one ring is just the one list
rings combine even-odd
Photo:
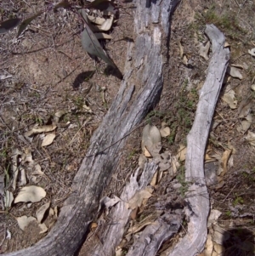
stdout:
[[130,178],[130,182],[124,187],[118,202],[110,213],[107,215],[108,221],[104,220],[101,224],[98,234],[93,234],[88,241],[82,245],[79,256],[115,255],[116,247],[122,241],[125,233],[125,227],[130,220],[131,209],[127,208],[127,202],[135,195],[136,192],[144,190],[156,172],[157,165],[154,162],[145,165],[141,177],[138,179],[139,168]]

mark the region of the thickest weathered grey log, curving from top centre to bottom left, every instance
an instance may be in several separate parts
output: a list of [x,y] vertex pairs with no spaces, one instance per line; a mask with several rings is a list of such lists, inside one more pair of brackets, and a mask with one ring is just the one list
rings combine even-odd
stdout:
[[[73,193],[65,201],[58,222],[48,236],[33,247],[7,255],[68,256],[81,247],[103,189],[120,159],[126,140],[122,138],[143,120],[160,98],[163,82],[161,44],[166,45],[161,38],[162,35],[169,37],[170,16],[178,1],[153,1],[150,11],[145,9],[144,0],[135,1],[135,38],[134,43],[128,45],[127,55],[127,60],[131,61],[126,63],[116,99],[91,139],[88,155],[97,155],[82,161],[73,181]],[[119,139],[122,140],[112,145]]]

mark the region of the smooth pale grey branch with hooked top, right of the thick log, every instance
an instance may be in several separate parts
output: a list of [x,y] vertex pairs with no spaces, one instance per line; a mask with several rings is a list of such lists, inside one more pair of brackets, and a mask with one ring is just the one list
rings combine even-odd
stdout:
[[190,222],[187,235],[178,242],[169,256],[193,256],[201,253],[207,240],[209,196],[204,175],[204,156],[215,105],[229,63],[229,48],[224,48],[224,34],[216,26],[207,26],[206,34],[212,42],[212,59],[206,82],[201,88],[195,121],[187,138],[185,161],[186,181],[191,184],[186,200],[186,214],[190,216]]

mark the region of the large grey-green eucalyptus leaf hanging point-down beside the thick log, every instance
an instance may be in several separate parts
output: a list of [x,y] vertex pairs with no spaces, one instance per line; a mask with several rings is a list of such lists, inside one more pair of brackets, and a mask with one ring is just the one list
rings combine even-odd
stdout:
[[88,54],[95,55],[104,60],[107,64],[116,68],[116,65],[105,54],[104,49],[101,47],[97,37],[95,37],[93,31],[86,24],[84,31],[82,31],[82,47],[88,52]]

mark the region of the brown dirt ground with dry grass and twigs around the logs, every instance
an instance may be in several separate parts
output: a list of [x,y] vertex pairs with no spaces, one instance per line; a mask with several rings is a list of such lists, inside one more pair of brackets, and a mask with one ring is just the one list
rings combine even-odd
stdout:
[[[208,185],[212,209],[221,213],[214,227],[229,234],[222,245],[225,248],[222,255],[254,255],[255,252],[255,148],[254,142],[252,145],[247,139],[249,132],[255,133],[255,92],[252,90],[255,58],[248,54],[248,50],[255,47],[255,3],[239,2],[241,0],[183,0],[179,3],[173,16],[161,101],[144,120],[144,125],[150,122],[158,128],[161,122],[167,123],[171,134],[163,139],[162,145],[173,155],[178,154],[180,145],[185,146],[209,61],[201,57],[198,45],[207,43],[206,24],[218,26],[229,43],[230,65],[237,66],[241,73],[239,78],[226,75],[213,117],[205,163],[209,173],[223,169],[222,174],[213,178],[216,182]],[[47,4],[31,0],[1,2],[0,21],[29,17]],[[127,40],[133,39],[134,11],[135,3],[120,3],[110,31],[112,39],[101,41],[120,71],[124,69]],[[14,152],[19,151],[19,157],[31,154],[43,174],[34,174],[29,162],[20,162],[20,168],[26,169],[26,185],[42,187],[47,196],[33,204],[18,202],[8,209],[3,207],[0,253],[30,247],[47,234],[40,234],[33,222],[20,230],[17,217],[35,217],[37,209],[50,202],[55,213],[45,222],[49,229],[54,225],[57,212],[71,193],[71,182],[86,155],[90,136],[105,116],[121,82],[102,60],[92,59],[82,49],[81,22],[76,14],[64,9],[55,14],[47,12],[34,20],[18,39],[16,32],[0,36],[0,174],[5,177],[4,191],[12,191],[15,198],[24,184],[18,177],[17,187],[12,187]],[[226,96],[229,92],[231,96]],[[36,134],[32,141],[26,139],[26,132],[35,125],[52,125],[59,111],[54,143],[42,147],[42,134]],[[129,139],[127,157],[119,168],[122,172],[118,170],[111,182],[116,196],[121,193],[128,175],[138,167],[141,131],[142,128]],[[183,200],[185,187],[184,161],[180,159],[179,163],[174,182],[182,185],[183,190],[171,191],[170,196],[176,202]],[[164,174],[161,185],[139,216],[169,207],[170,182],[173,179],[169,180]],[[111,191],[105,193],[109,195]],[[214,231],[211,227],[208,234]],[[185,225],[177,237],[163,244],[161,253],[184,233]],[[128,249],[128,244],[123,247]]]

